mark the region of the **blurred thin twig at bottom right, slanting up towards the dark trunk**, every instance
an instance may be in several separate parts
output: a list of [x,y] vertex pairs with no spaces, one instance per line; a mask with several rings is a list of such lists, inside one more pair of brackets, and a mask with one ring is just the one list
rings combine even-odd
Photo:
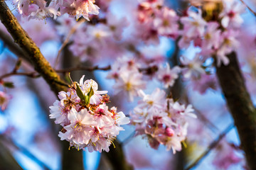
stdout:
[[189,169],[192,169],[193,167],[197,166],[204,158],[206,158],[206,156],[210,153],[210,151],[218,145],[220,140],[222,140],[223,137],[225,137],[225,135],[227,135],[228,132],[230,132],[230,130],[232,130],[234,127],[235,127],[235,125],[232,123],[228,126],[228,128],[225,128],[225,130],[223,130],[223,132],[221,132],[220,135],[213,142],[210,143],[210,145],[207,147],[206,151],[203,152],[203,154],[201,154],[201,156],[199,156],[196,159],[196,161],[193,162],[192,164],[190,164],[185,170],[189,170]]

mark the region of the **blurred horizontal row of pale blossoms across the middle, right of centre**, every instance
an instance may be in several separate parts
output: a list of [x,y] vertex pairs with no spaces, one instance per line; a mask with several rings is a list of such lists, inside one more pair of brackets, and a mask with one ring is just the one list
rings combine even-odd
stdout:
[[208,88],[216,89],[217,81],[213,75],[206,74],[202,67],[199,55],[188,60],[181,58],[182,67],[170,67],[166,64],[144,64],[134,57],[119,57],[112,64],[111,71],[107,74],[107,79],[114,79],[114,94],[122,93],[129,101],[134,101],[134,97],[139,96],[139,90],[146,89],[146,81],[155,79],[160,82],[165,89],[174,86],[179,74],[183,79],[192,81],[194,90],[204,94]]

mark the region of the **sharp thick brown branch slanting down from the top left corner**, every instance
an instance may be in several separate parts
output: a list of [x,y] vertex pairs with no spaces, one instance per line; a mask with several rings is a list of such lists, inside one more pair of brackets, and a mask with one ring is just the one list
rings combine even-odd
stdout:
[[0,1],[0,20],[7,28],[14,41],[21,47],[23,52],[28,54],[29,60],[32,62],[35,70],[48,82],[50,88],[58,94],[59,91],[66,89],[63,86],[58,74],[50,66],[49,62],[43,57],[41,51],[35,42],[28,37],[28,34],[21,28],[17,19],[11,13],[4,1]]

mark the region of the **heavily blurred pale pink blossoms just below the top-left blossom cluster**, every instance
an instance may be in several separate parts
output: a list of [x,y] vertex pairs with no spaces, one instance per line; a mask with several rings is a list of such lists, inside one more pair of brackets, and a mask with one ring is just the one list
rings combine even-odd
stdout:
[[[68,21],[68,18],[63,19]],[[69,31],[62,22],[60,28]],[[117,18],[112,13],[105,14],[105,21],[97,23],[96,26],[84,23],[73,35],[73,43],[70,51],[82,62],[102,60],[103,57],[116,56],[122,50],[119,41],[122,39],[123,28],[128,26],[125,18]]]

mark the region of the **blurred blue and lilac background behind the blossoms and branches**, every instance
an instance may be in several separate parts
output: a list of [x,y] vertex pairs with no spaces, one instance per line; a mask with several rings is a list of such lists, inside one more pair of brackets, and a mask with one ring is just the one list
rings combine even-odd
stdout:
[[[23,21],[18,16],[16,9],[14,9],[11,1],[7,1],[9,8],[13,9],[21,26],[28,32],[28,35],[40,47],[41,52],[52,65],[56,65],[56,69],[82,66],[99,65],[105,67],[112,65],[117,57],[122,57],[125,54],[124,50],[117,50],[113,47],[114,52],[110,52],[102,57],[95,57],[93,60],[82,61],[75,57],[70,52],[70,45],[72,45],[72,37],[79,36],[73,33],[70,42],[63,49],[57,64],[56,57],[58,50],[60,50],[67,34],[68,25],[63,24],[66,16],[58,18],[56,21],[48,18],[46,21],[30,20]],[[101,2],[102,3],[102,2]],[[133,24],[134,11],[137,9],[137,0],[112,0],[108,2],[110,5],[109,11],[116,18],[126,18],[127,26],[122,33],[123,39],[121,42],[113,42],[107,44],[107,47],[113,45],[120,45],[124,48],[127,45],[139,44],[138,49],[148,59],[153,58],[156,60],[169,62],[171,66],[177,64],[177,57],[184,55],[193,59],[197,47],[191,45],[186,50],[179,49],[176,40],[171,38],[159,37],[159,43],[156,45],[147,45],[145,43],[138,43],[139,39],[134,38],[134,29],[137,29]],[[189,6],[188,1],[165,1],[166,6],[174,8],[175,11],[183,11]],[[245,1],[245,3],[256,11],[256,4],[254,1]],[[99,5],[100,6],[100,5]],[[104,9],[102,9],[104,11]],[[255,75],[252,74],[255,70],[255,45],[256,29],[255,29],[255,16],[247,10],[242,15],[244,23],[241,28],[241,48],[238,50],[240,63],[245,75],[247,87],[255,103]],[[74,19],[75,22],[75,19]],[[129,24],[128,24],[129,23]],[[10,50],[4,36],[8,38],[9,34],[2,24],[0,24],[0,76],[11,72],[17,62],[17,56],[13,50]],[[82,30],[82,28],[81,28]],[[79,31],[78,31],[79,32]],[[77,33],[78,33],[77,32]],[[10,39],[11,40],[11,39]],[[129,42],[129,43],[128,43]],[[97,52],[102,50],[98,48]],[[103,51],[104,53],[104,51]],[[113,55],[114,54],[114,55]],[[131,55],[129,52],[128,55]],[[253,55],[253,57],[245,57],[245,55]],[[33,72],[33,67],[25,60],[21,63],[23,72]],[[129,102],[122,94],[114,96],[114,80],[106,79],[108,71],[95,71],[85,72],[77,71],[71,72],[73,81],[79,81],[80,77],[85,74],[85,79],[95,79],[100,86],[100,90],[107,90],[110,96],[111,106],[117,106],[119,111],[123,111],[126,115],[132,112],[134,106],[137,105],[138,98],[133,102]],[[66,75],[63,75],[66,77]],[[215,74],[213,73],[215,78]],[[49,106],[57,99],[55,94],[50,91],[50,87],[43,78],[31,78],[25,76],[12,76],[7,77],[4,81],[13,82],[14,88],[9,89],[1,87],[1,91],[6,91],[11,96],[6,110],[0,111],[0,157],[1,164],[13,164],[10,169],[61,169],[61,141],[58,137],[58,130],[60,127],[49,119]],[[216,81],[216,78],[215,78]],[[124,131],[120,132],[117,137],[123,143],[124,152],[127,161],[138,170],[150,169],[182,169],[182,166],[188,166],[195,161],[211,142],[218,139],[220,133],[225,130],[229,125],[233,125],[233,118],[228,112],[225,104],[225,98],[221,94],[221,90],[216,82],[213,82],[214,87],[207,89],[203,94],[195,89],[195,82],[178,79],[178,83],[174,86],[173,95],[183,103],[191,103],[196,110],[198,119],[190,120],[188,128],[188,140],[186,141],[187,147],[183,147],[181,152],[173,154],[166,152],[164,146],[159,149],[152,149],[147,140],[141,136],[134,137],[134,126],[125,125]],[[154,79],[148,81],[146,92],[151,93],[152,89],[162,87],[159,81]],[[199,84],[199,82],[198,82]],[[203,84],[203,82],[201,82]],[[210,150],[210,153],[202,160],[194,169],[219,169],[218,159],[233,160],[233,164],[227,169],[245,169],[245,160],[243,152],[239,148],[240,141],[235,128],[232,128],[220,145]],[[237,148],[237,149],[234,149]],[[68,149],[68,148],[67,148]],[[108,165],[107,158],[98,152],[79,151],[83,154],[84,169],[111,169]],[[221,157],[224,152],[230,152],[232,158]],[[16,163],[15,163],[16,162]],[[4,166],[3,166],[4,167]],[[223,166],[224,167],[224,166]],[[223,168],[225,169],[225,168]]]

